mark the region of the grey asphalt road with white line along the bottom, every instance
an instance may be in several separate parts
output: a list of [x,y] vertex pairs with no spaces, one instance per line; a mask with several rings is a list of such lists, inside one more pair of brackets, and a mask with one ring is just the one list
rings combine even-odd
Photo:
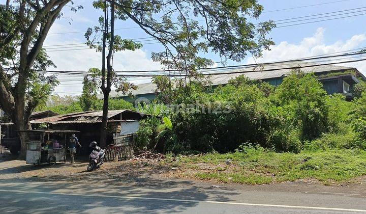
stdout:
[[366,198],[343,193],[242,191],[180,185],[103,186],[0,180],[0,213],[366,213]]

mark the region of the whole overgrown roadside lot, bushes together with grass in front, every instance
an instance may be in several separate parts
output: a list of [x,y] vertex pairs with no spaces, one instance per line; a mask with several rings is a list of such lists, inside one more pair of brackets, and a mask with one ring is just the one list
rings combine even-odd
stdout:
[[163,120],[141,122],[138,147],[171,154],[161,164],[194,179],[350,181],[366,175],[364,86],[354,87],[350,102],[296,70],[278,87],[239,76],[216,88],[195,82],[178,93],[161,90],[156,102],[165,105],[145,109],[165,109],[156,115]]

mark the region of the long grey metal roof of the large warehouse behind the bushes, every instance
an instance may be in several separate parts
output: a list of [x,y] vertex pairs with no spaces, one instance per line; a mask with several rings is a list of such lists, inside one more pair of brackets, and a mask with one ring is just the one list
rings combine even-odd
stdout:
[[[211,75],[210,80],[212,82],[213,86],[216,85],[224,85],[229,82],[229,79],[235,78],[240,75],[245,75],[249,77],[252,80],[257,79],[270,79],[270,78],[276,78],[281,76],[288,75],[291,70],[289,69],[292,67],[302,67],[302,66],[314,66],[314,67],[305,67],[300,68],[301,71],[305,73],[322,73],[322,72],[338,72],[343,70],[355,70],[353,67],[346,67],[346,66],[336,66],[336,65],[319,65],[316,63],[311,62],[304,62],[304,61],[296,61],[296,62],[284,62],[284,63],[273,63],[268,65],[263,65],[263,67],[259,68],[256,67],[256,70],[253,72],[253,67],[245,67],[245,68],[228,68],[226,70],[220,69],[220,71],[215,71],[215,68],[212,68],[211,70],[205,70],[205,72],[210,73],[223,73],[218,75]],[[275,71],[260,71],[260,70],[268,70],[268,69],[279,69]],[[242,73],[230,73],[225,74],[229,72],[242,72]],[[156,85],[153,83],[145,83],[137,85],[137,90],[131,90],[128,93],[132,93],[134,95],[141,95],[141,94],[151,94],[155,93],[156,91]],[[121,92],[116,92],[115,90],[112,90],[109,94],[110,97],[123,97],[127,96],[124,95]],[[98,98],[102,99],[103,95],[99,95]]]

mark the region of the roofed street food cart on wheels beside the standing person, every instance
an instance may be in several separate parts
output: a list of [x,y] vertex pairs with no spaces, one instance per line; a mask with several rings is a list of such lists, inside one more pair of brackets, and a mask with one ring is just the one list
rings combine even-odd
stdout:
[[23,130],[28,133],[26,163],[40,165],[64,161],[66,163],[67,142],[73,130]]

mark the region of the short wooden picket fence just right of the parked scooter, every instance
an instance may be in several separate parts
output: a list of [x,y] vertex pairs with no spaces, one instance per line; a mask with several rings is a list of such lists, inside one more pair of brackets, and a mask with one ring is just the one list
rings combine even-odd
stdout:
[[105,161],[125,161],[132,158],[133,145],[108,146],[106,148]]

